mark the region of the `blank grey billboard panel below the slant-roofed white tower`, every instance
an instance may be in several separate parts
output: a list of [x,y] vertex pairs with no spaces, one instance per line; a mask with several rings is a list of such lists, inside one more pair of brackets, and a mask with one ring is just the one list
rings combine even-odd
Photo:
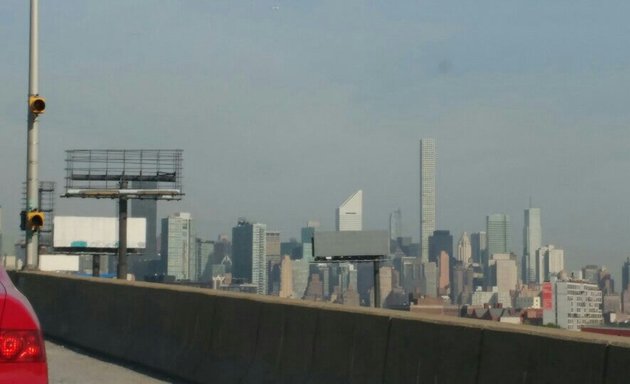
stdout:
[[388,231],[315,231],[313,237],[313,256],[316,259],[377,257],[388,254]]

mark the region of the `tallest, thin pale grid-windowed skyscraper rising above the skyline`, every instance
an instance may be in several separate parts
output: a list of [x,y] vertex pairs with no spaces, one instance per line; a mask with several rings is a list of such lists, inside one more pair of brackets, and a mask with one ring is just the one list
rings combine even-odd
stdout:
[[420,261],[429,260],[429,236],[435,231],[435,141],[420,140]]

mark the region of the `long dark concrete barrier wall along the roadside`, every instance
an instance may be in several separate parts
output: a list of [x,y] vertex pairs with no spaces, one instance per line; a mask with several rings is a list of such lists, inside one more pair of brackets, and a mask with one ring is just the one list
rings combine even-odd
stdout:
[[628,383],[630,341],[19,272],[44,332],[196,383]]

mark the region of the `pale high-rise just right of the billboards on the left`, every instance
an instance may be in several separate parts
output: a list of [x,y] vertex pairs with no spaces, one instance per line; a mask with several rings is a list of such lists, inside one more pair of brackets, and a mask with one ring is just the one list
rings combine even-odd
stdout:
[[192,216],[178,212],[162,219],[162,265],[164,274],[176,280],[193,279],[195,252]]

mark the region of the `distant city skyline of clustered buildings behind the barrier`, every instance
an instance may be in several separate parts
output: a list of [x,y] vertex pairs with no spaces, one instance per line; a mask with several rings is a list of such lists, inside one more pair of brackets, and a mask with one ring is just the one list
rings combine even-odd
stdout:
[[[161,219],[158,235],[156,202],[144,200],[131,205],[131,216],[147,219],[147,244],[130,259],[130,269],[149,281],[575,331],[630,320],[630,258],[623,264],[620,294],[605,266],[567,271],[565,251],[543,241],[540,208],[524,210],[519,252],[504,213],[490,213],[485,228],[456,236],[438,229],[436,162],[435,141],[420,140],[418,241],[405,236],[403,213],[393,211],[389,252],[376,269],[370,263],[315,261],[316,220],[306,222],[299,239],[283,241],[265,223],[238,218],[230,235],[210,240],[199,237],[191,213],[179,212]],[[336,208],[335,230],[363,231],[363,209],[358,190]],[[105,269],[114,268],[110,260]]]

